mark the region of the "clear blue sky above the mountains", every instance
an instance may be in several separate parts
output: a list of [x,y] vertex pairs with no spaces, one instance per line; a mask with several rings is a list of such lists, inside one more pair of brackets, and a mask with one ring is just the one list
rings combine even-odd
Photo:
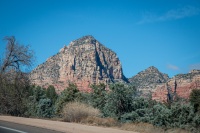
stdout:
[[84,35],[115,51],[126,77],[200,69],[199,0],[0,0],[0,52],[15,36],[35,51],[34,67]]

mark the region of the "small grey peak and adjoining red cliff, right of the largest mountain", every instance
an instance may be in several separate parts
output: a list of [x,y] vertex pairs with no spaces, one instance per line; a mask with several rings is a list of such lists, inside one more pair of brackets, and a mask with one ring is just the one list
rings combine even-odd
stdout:
[[155,67],[149,67],[129,79],[142,96],[152,96],[153,100],[166,102],[167,99],[188,99],[192,89],[200,89],[200,70],[192,70],[187,74],[178,74],[169,78]]

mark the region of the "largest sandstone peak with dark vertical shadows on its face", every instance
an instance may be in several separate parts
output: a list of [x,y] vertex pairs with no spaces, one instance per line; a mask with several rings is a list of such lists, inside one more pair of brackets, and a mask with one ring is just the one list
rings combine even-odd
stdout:
[[81,91],[90,91],[90,84],[127,82],[121,63],[113,51],[92,36],[84,36],[64,46],[30,73],[33,84],[54,85],[63,90],[69,82]]

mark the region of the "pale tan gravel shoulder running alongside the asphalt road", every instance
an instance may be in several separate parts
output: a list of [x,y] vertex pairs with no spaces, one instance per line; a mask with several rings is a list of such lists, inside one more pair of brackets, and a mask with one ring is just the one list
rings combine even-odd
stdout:
[[77,123],[68,123],[60,121],[42,120],[34,118],[0,116],[0,120],[18,124],[42,127],[46,129],[67,132],[67,133],[136,133],[114,128],[104,128],[97,126],[88,126]]

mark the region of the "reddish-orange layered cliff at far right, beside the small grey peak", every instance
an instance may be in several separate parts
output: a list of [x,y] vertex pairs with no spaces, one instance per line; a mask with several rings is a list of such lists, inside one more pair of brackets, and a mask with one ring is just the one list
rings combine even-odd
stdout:
[[171,95],[172,100],[175,98],[173,95],[188,99],[192,89],[200,89],[200,70],[192,70],[187,74],[178,74],[169,79],[167,83],[156,86],[152,93],[152,99],[166,101],[168,93]]

